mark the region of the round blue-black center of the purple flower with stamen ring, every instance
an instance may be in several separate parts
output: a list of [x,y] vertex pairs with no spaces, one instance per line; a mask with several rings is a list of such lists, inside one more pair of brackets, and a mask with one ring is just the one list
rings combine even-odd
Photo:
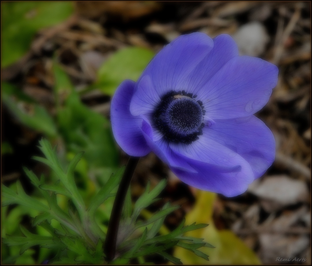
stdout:
[[190,144],[202,135],[206,111],[196,96],[183,90],[170,91],[161,98],[153,118],[169,142]]

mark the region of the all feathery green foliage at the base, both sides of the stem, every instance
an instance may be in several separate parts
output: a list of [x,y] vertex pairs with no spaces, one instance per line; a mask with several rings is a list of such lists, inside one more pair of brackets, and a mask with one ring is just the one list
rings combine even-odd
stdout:
[[[103,224],[99,224],[95,219],[95,214],[108,198],[115,196],[124,168],[112,174],[105,185],[86,204],[74,178],[74,170],[83,154],[78,153],[65,170],[56,155],[56,149],[52,149],[47,140],[42,139],[39,148],[44,157],[34,157],[34,159],[48,165],[54,173],[52,176],[56,178],[46,183],[43,176],[37,178],[32,171],[25,168],[25,173],[36,188],[35,194],[41,193],[42,197],[27,195],[21,183],[17,182],[16,186],[10,188],[2,186],[2,206],[17,204],[23,208],[32,209],[33,212],[30,213],[33,213],[33,228],[37,228],[37,232],[44,231],[45,233],[33,233],[36,230],[20,226],[21,234],[5,235],[3,243],[7,246],[18,247],[19,254],[23,254],[36,245],[50,249],[53,251],[53,258],[49,263],[53,264],[107,263],[103,252],[105,230],[103,230]],[[132,208],[128,192],[123,209],[123,220],[119,226],[117,256],[112,263],[126,264],[136,258],[142,261],[144,256],[159,254],[175,264],[181,264],[178,258],[168,252],[175,245],[208,259],[208,256],[200,252],[198,248],[212,247],[211,245],[203,242],[202,239],[183,236],[185,232],[205,227],[206,224],[184,226],[183,221],[169,234],[159,234],[165,217],[178,206],[170,206],[167,203],[149,219],[140,219],[141,211],[157,200],[156,197],[165,185],[166,182],[163,180],[151,191],[148,185],[143,195],[135,202],[134,208]],[[58,201],[60,196],[67,199],[65,208]],[[16,259],[11,258],[10,263],[16,262]]]

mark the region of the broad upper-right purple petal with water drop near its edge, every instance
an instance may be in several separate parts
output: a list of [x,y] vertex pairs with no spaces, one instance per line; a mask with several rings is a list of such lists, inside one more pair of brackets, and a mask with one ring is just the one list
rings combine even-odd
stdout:
[[278,68],[260,58],[228,61],[197,93],[213,120],[245,117],[259,111],[277,84]]

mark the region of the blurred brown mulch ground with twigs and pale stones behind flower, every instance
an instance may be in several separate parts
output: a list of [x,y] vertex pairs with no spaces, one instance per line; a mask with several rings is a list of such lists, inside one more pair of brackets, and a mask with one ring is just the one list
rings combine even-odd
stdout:
[[[215,225],[231,229],[265,264],[278,264],[277,257],[305,258],[297,263],[310,264],[310,27],[310,2],[76,2],[72,17],[38,32],[27,55],[2,69],[2,81],[19,85],[53,114],[53,56],[75,88],[83,90],[120,48],[135,45],[157,52],[185,33],[230,34],[241,55],[279,67],[270,101],[256,114],[275,136],[276,159],[241,196],[217,197]],[[110,97],[100,90],[83,94],[82,101],[109,117]],[[22,166],[46,171],[31,159],[39,154],[41,137],[2,105],[2,143],[10,143],[14,151],[2,157],[3,183],[27,183]],[[127,155],[120,154],[125,164]],[[168,186],[162,202],[150,210],[169,200],[181,205],[166,220],[173,229],[192,209],[196,190],[181,183],[154,154],[140,160],[132,197],[144,191],[148,180],[156,184],[162,178],[168,178]]]

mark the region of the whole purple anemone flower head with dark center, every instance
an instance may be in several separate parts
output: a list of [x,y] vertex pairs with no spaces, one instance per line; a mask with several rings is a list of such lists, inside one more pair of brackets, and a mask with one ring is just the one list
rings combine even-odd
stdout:
[[111,101],[115,140],[131,156],[153,151],[180,180],[227,197],[246,191],[274,161],[275,140],[253,114],[269,100],[278,68],[238,56],[227,34],[182,35]]

